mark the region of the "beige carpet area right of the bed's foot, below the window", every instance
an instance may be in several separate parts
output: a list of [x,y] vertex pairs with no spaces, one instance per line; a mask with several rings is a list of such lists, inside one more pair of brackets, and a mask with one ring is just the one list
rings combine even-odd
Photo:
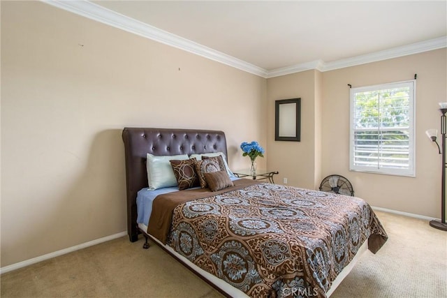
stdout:
[[427,221],[376,211],[388,241],[367,251],[332,298],[447,297],[447,232]]

